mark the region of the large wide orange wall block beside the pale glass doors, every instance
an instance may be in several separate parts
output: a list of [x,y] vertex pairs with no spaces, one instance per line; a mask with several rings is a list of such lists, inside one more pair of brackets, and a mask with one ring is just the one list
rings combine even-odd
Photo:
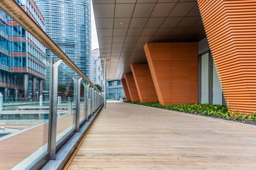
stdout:
[[198,103],[198,43],[147,43],[146,60],[162,105]]

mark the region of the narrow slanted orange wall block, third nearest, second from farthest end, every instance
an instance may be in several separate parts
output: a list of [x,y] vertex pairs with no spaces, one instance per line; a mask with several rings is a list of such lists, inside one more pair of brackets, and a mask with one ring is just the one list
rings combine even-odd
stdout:
[[129,94],[131,96],[132,101],[139,101],[139,95],[138,91],[134,82],[133,75],[130,74],[124,74],[125,80],[127,81],[127,86],[129,89]]

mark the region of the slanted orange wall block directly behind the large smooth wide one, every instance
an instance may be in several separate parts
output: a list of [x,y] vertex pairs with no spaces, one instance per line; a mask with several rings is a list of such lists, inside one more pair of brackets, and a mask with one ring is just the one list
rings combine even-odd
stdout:
[[132,74],[141,102],[158,101],[148,64],[132,64]]

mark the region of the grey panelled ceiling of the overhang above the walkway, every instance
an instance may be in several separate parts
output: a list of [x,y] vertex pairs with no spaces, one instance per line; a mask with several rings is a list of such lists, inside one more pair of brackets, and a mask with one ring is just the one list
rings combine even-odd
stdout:
[[131,64],[146,63],[146,42],[206,38],[196,0],[92,0],[107,79],[122,79]]

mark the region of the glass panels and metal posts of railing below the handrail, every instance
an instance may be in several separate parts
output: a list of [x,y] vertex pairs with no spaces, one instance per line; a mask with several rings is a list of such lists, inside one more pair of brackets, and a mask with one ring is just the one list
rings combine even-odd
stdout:
[[66,62],[0,24],[0,169],[30,169],[55,159],[104,98]]

